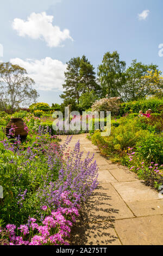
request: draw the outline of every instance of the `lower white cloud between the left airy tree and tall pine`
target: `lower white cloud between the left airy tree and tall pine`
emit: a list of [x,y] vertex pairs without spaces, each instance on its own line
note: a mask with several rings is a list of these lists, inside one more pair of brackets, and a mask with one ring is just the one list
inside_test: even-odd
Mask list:
[[20,58],[11,59],[12,64],[22,66],[27,70],[28,76],[35,81],[36,89],[58,91],[63,90],[62,84],[65,81],[64,71],[66,71],[66,64],[60,60],[46,57],[45,59],[35,60]]

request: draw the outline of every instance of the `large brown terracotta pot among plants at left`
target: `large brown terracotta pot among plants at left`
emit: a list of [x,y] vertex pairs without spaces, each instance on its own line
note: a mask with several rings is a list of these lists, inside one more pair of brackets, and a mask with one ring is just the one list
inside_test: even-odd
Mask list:
[[[10,136],[10,137],[18,137],[18,135],[20,135],[21,139],[26,139],[27,138],[27,131],[24,130],[24,123],[22,118],[11,118],[10,122],[8,123],[8,125],[5,127],[5,135]],[[11,128],[14,128],[14,131],[12,131],[12,133],[14,134],[13,136],[11,136],[9,133],[9,130]]]

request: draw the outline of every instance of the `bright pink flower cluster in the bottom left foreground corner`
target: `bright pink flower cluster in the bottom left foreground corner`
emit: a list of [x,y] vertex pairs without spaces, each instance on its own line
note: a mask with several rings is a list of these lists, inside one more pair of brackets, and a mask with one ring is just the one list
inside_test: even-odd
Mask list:
[[[62,198],[67,200],[65,194],[62,194]],[[42,210],[48,210],[47,206],[42,206]],[[18,228],[14,224],[6,225],[5,229],[0,228],[0,234],[7,234],[10,245],[68,245],[65,238],[70,236],[72,224],[78,215],[76,207],[60,208],[51,211],[42,225],[37,224],[35,218],[29,218],[27,224]],[[20,232],[19,236],[16,235],[16,229]]]

